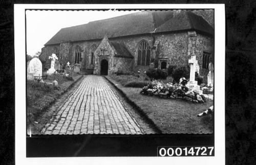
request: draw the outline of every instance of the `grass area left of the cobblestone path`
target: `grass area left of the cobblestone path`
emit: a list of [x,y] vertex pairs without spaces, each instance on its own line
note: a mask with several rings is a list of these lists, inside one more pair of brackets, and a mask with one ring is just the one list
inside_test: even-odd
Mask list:
[[27,81],[27,124],[33,124],[47,108],[78,79],[81,75],[74,74],[69,80],[61,75],[50,75],[46,82],[58,81],[58,87],[41,82]]

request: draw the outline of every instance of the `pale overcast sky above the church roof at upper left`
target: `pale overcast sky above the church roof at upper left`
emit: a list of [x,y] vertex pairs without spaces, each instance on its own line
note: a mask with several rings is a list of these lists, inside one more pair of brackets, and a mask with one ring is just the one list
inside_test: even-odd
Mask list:
[[138,11],[26,11],[27,53],[41,51],[61,28]]

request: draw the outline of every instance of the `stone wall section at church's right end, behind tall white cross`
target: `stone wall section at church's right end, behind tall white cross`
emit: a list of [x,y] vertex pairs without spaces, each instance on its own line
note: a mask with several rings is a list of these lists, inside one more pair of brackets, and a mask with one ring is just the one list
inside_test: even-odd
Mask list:
[[195,53],[200,66],[200,75],[204,77],[204,81],[207,81],[209,71],[202,68],[203,51],[214,53],[214,40],[200,33],[193,33],[196,36],[189,36],[188,32],[155,35],[155,42],[159,43],[159,68],[161,60],[165,61],[165,59],[167,59],[167,67],[188,65],[188,59]]

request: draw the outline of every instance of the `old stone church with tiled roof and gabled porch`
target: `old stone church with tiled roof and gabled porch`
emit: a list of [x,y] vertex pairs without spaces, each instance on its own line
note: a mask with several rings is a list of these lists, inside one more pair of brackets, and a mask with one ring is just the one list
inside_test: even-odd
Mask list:
[[58,56],[90,74],[106,75],[148,68],[188,65],[196,55],[207,78],[214,62],[214,10],[140,11],[61,29],[41,50],[43,68]]

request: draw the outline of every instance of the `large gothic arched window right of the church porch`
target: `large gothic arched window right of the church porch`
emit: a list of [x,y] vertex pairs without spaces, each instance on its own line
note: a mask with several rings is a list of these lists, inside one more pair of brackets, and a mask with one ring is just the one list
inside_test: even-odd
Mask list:
[[137,65],[150,65],[151,47],[147,41],[142,40],[138,46]]

